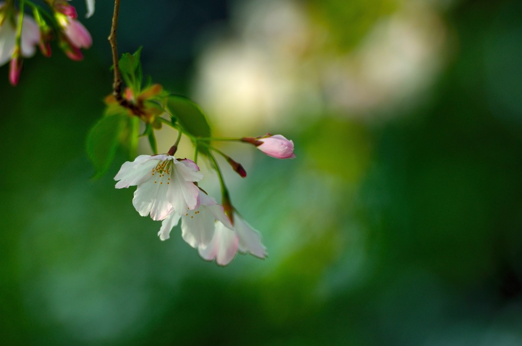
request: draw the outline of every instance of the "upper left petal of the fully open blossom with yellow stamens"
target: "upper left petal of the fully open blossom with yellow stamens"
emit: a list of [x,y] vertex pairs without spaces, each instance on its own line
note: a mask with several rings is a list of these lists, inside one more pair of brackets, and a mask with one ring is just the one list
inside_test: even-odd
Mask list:
[[114,180],[120,180],[116,183],[116,189],[128,188],[153,178],[152,169],[159,162],[159,159],[150,155],[140,155],[133,162],[127,161],[114,177]]

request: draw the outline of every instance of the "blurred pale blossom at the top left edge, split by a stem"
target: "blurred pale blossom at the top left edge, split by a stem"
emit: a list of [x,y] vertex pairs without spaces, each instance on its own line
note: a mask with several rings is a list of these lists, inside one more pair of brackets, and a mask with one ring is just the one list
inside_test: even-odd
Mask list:
[[[2,5],[0,5],[0,9]],[[18,21],[18,20],[16,20]],[[23,16],[21,53],[22,56],[30,57],[34,55],[35,45],[40,42],[40,29],[34,19],[29,15]],[[16,48],[16,27],[11,24],[8,18],[4,18],[0,25],[0,66],[11,60]]]

